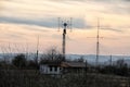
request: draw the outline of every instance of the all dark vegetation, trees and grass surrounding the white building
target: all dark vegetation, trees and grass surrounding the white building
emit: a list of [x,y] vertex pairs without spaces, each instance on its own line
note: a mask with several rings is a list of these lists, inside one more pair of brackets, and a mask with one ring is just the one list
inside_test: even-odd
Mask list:
[[[52,49],[43,54],[39,63],[64,61],[62,54]],[[70,61],[70,60],[66,60]],[[87,62],[83,57],[73,60]],[[39,72],[36,60],[27,60],[25,54],[17,54],[11,62],[0,62],[0,87],[127,87],[130,84],[130,69],[118,60],[114,65],[92,67],[87,72],[64,75],[43,75]]]

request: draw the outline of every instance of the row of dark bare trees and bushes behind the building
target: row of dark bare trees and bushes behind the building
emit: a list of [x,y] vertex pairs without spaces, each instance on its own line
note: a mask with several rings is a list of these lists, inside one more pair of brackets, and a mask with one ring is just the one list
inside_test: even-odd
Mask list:
[[[62,53],[58,52],[56,49],[50,49],[47,53],[40,55],[40,60],[36,60],[36,57],[34,59],[27,59],[27,55],[24,53],[20,53],[15,55],[11,62],[6,61],[0,61],[0,69],[11,69],[11,70],[39,70],[39,65],[42,63],[46,63],[48,61],[73,61],[73,62],[87,62],[84,61],[83,57],[80,57],[79,59],[70,60],[66,59],[64,60],[62,57]],[[38,62],[38,63],[37,63]],[[101,74],[113,74],[113,75],[120,75],[120,76],[130,76],[130,67],[127,63],[125,63],[123,60],[118,60],[115,64],[109,64],[105,66],[92,66],[89,63],[87,63],[88,67],[91,67],[92,70],[95,70],[94,72],[99,72]],[[87,72],[90,72],[90,70],[87,70]],[[93,73],[94,73],[93,72]]]

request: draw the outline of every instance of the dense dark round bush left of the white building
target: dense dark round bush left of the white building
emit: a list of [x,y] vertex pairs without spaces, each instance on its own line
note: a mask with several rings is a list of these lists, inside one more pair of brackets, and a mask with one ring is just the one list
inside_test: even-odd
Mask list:
[[25,54],[17,54],[14,57],[12,60],[12,64],[15,65],[18,69],[24,69],[26,67],[27,60],[25,58]]

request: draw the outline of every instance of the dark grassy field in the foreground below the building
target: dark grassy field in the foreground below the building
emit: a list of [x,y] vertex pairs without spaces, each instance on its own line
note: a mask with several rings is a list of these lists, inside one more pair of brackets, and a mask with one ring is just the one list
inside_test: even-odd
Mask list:
[[34,70],[1,70],[0,87],[127,87],[129,79],[115,75],[66,74],[42,75]]

